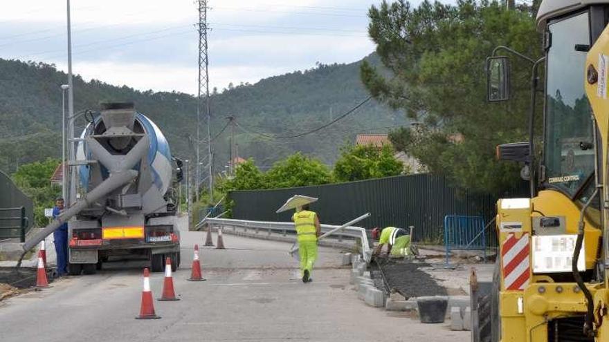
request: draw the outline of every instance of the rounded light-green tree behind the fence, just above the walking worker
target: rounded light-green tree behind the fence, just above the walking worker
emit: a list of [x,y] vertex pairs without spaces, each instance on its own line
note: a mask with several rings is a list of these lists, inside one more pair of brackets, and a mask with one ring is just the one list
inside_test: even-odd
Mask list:
[[275,162],[264,179],[266,189],[305,187],[331,182],[331,173],[316,158],[310,158],[297,152],[284,160]]

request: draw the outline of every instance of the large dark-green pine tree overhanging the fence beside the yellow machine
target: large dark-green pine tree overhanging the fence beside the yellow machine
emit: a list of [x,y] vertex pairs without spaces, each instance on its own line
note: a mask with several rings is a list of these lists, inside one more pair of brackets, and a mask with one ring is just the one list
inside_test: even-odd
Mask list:
[[364,62],[361,78],[376,99],[422,124],[416,134],[394,131],[395,146],[463,187],[496,191],[516,182],[518,167],[494,160],[494,149],[527,139],[531,66],[511,64],[505,104],[484,101],[484,66],[496,46],[540,56],[533,12],[487,0],[372,6],[368,31],[384,68]]

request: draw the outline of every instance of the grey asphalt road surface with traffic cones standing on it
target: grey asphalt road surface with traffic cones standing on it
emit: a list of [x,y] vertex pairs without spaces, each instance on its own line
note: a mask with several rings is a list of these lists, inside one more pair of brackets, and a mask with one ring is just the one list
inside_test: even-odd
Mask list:
[[[174,273],[181,301],[154,301],[162,319],[136,320],[142,269],[62,278],[51,289],[0,302],[0,341],[469,341],[469,332],[423,325],[368,307],[349,285],[340,254],[320,249],[313,283],[298,279],[288,243],[224,235],[226,250],[203,248],[204,282],[190,276],[192,247],[203,234],[182,234]],[[161,295],[163,274],[151,278]]]

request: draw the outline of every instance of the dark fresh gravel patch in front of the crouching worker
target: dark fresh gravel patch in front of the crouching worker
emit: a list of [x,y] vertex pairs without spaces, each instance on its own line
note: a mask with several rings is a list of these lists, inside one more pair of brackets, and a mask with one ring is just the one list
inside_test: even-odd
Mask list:
[[[395,289],[406,298],[421,296],[446,296],[446,288],[439,285],[430,274],[421,270],[428,263],[410,260],[376,258],[372,263],[372,278],[379,288]],[[382,271],[382,273],[381,273]],[[383,285],[383,277],[388,284]]]

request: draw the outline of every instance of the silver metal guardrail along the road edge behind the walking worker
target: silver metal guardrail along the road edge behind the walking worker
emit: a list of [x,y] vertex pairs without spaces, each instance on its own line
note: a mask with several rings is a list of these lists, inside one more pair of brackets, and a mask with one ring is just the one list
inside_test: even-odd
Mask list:
[[[296,227],[294,226],[294,222],[271,222],[271,221],[250,221],[250,220],[233,220],[230,218],[206,218],[201,221],[197,228],[201,227],[204,224],[210,225],[210,227],[220,226],[223,228],[228,227],[232,228],[233,231],[237,231],[237,229],[243,229],[243,231],[248,231],[248,229],[253,230],[256,234],[259,234],[260,231],[266,231],[267,235],[282,234],[282,236],[287,236],[288,234],[296,236]],[[336,229],[340,226],[338,225],[321,225],[322,234],[331,231],[332,229]],[[366,229],[362,227],[345,227],[342,231],[337,231],[332,234],[338,238],[338,241],[342,241],[343,239],[348,240],[361,240],[361,253],[366,261],[366,263],[370,263],[372,258],[372,251],[370,251],[370,244],[368,243],[368,237],[366,234]]]

